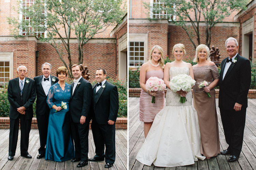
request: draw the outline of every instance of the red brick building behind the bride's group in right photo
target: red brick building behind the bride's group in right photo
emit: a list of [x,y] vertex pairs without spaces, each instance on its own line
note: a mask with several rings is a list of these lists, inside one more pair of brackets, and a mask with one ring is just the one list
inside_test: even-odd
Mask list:
[[[164,56],[172,56],[172,47],[177,43],[182,43],[186,47],[186,56],[194,58],[195,49],[190,42],[186,32],[179,26],[175,26],[168,19],[148,20],[148,10],[144,7],[143,2],[156,3],[159,0],[129,0],[129,67],[141,65],[147,61],[151,48],[154,45],[159,45],[163,48]],[[255,2],[255,1],[252,1]],[[251,2],[251,3],[252,3]],[[254,5],[255,6],[255,5]],[[254,7],[255,11],[255,7]],[[252,13],[255,15],[255,12]],[[212,28],[211,46],[219,48],[222,59],[227,57],[225,50],[225,41],[228,37],[237,38],[240,41],[240,54],[249,58],[242,52],[241,24],[236,15],[238,12],[233,12],[229,17],[226,17],[222,23],[217,23]],[[241,13],[241,12],[240,12]],[[240,15],[239,15],[240,16]],[[247,13],[241,14],[247,16]],[[246,19],[245,19],[246,20]],[[254,19],[254,22],[256,19]],[[187,24],[190,24],[189,22]],[[200,23],[201,43],[205,39],[205,24]],[[255,29],[254,29],[255,30]],[[194,36],[196,41],[196,35]],[[256,42],[256,39],[254,40]],[[255,49],[256,50],[256,49]],[[242,52],[242,53],[241,53]]]

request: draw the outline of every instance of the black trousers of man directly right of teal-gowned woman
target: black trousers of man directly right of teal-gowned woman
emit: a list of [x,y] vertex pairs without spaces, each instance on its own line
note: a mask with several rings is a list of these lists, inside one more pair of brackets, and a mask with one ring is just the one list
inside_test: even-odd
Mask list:
[[88,134],[89,134],[89,121],[84,124],[74,123],[71,121],[71,132],[75,144],[75,157],[81,158],[81,161],[88,161]]

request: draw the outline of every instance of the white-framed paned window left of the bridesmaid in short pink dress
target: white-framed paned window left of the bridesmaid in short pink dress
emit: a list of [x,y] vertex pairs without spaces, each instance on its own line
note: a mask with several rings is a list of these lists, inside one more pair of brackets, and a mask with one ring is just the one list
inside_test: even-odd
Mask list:
[[141,66],[144,63],[144,42],[129,42],[129,66]]

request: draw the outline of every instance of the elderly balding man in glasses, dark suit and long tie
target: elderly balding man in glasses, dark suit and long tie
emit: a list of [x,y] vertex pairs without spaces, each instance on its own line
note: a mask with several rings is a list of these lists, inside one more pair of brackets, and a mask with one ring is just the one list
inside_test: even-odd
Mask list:
[[13,160],[15,155],[19,121],[20,121],[20,155],[32,158],[28,153],[29,132],[33,117],[33,103],[35,101],[35,81],[27,78],[26,66],[17,68],[19,77],[12,79],[8,84],[8,100],[10,102],[10,135],[9,135],[9,156]]

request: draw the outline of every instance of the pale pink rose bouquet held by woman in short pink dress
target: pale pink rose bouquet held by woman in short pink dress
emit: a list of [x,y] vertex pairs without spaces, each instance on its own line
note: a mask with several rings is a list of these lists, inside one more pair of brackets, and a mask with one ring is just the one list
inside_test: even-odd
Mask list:
[[[145,85],[147,91],[163,91],[166,88],[165,82],[157,77],[150,77]],[[156,103],[155,96],[152,96],[151,103]]]

